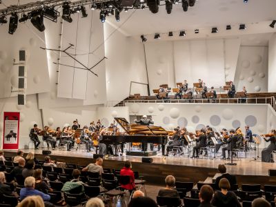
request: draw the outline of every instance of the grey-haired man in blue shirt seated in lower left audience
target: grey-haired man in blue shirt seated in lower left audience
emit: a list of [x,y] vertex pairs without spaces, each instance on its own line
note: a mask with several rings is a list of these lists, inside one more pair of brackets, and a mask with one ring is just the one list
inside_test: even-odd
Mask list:
[[35,186],[35,179],[34,177],[26,177],[24,181],[25,188],[20,190],[20,199],[23,200],[24,198],[30,195],[39,195],[42,197],[43,201],[50,201],[50,195],[42,193],[39,190],[34,189]]

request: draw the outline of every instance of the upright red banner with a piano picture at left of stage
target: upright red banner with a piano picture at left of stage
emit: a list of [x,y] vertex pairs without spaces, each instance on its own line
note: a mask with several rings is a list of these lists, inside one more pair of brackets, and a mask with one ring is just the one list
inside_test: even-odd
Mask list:
[[4,112],[3,149],[17,150],[19,147],[20,112]]

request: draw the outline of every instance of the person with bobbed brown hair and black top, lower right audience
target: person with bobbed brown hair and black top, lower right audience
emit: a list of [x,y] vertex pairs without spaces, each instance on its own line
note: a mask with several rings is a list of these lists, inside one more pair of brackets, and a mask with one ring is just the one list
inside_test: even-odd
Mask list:
[[212,200],[212,204],[217,207],[242,207],[237,199],[235,193],[228,191],[230,190],[230,183],[228,179],[221,178],[219,181],[219,188],[221,191],[217,190]]

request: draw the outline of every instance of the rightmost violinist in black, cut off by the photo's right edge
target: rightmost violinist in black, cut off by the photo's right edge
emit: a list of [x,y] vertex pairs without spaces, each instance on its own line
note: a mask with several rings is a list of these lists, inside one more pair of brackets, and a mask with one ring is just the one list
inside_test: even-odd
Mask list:
[[[272,152],[276,149],[276,130],[271,130],[270,134],[261,136],[264,137],[264,141],[270,141],[269,146],[262,150],[262,161],[274,162]],[[268,139],[266,137],[268,137]]]

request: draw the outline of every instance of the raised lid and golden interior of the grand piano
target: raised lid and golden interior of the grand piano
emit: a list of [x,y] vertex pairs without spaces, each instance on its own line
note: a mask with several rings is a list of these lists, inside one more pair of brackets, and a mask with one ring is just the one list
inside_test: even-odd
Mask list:
[[125,118],[115,117],[117,123],[124,128],[128,135],[168,135],[161,126],[144,126],[140,124],[129,124]]

